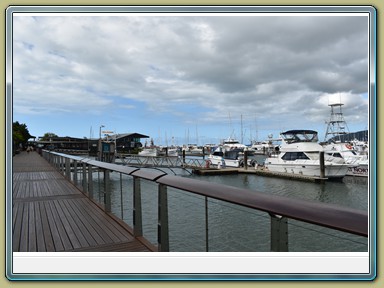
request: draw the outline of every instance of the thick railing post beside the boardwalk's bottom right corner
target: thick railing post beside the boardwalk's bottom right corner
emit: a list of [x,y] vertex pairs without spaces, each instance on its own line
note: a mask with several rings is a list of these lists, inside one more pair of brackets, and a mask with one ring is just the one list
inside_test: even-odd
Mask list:
[[159,184],[157,242],[160,252],[169,252],[167,186]]

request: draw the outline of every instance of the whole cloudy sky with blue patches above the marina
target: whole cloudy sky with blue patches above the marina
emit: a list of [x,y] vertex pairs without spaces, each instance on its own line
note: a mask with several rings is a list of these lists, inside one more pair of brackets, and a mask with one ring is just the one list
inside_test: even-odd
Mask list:
[[361,16],[14,16],[13,121],[155,144],[322,140],[340,99],[349,130],[368,128],[368,37]]

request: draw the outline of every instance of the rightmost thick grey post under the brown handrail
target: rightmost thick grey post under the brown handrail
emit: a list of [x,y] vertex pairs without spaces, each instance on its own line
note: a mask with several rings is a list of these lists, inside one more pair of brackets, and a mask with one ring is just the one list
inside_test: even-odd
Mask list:
[[288,220],[280,215],[271,217],[271,251],[288,252]]

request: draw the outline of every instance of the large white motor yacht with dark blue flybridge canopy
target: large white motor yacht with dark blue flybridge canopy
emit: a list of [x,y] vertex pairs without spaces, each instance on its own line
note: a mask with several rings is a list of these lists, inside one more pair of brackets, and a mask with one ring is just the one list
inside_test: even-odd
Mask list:
[[[265,167],[272,172],[321,177],[318,134],[313,130],[289,130],[280,134],[281,145],[277,153],[265,160]],[[342,158],[324,155],[324,177],[341,179],[348,170]]]

